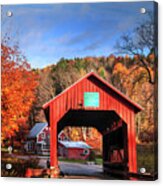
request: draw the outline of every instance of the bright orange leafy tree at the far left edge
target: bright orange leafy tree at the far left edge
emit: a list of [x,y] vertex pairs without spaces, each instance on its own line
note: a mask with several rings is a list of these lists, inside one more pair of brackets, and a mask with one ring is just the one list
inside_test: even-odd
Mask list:
[[1,116],[2,144],[27,127],[32,104],[36,98],[38,75],[18,47],[1,46]]

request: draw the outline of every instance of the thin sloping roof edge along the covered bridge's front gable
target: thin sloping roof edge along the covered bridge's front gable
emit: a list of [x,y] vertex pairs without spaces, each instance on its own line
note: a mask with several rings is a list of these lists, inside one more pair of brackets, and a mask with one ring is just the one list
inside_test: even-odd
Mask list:
[[90,72],[88,74],[86,74],[84,77],[82,77],[81,79],[79,79],[78,81],[76,81],[74,84],[72,84],[71,86],[69,86],[68,88],[66,88],[64,91],[62,91],[60,94],[58,94],[57,96],[55,96],[53,99],[51,99],[49,102],[45,103],[43,105],[43,109],[47,108],[53,101],[55,101],[57,98],[59,98],[62,94],[64,94],[65,92],[69,91],[71,88],[73,88],[76,84],[80,83],[83,79],[86,79],[90,76],[95,77],[97,80],[99,80],[102,84],[106,85],[110,90],[112,90],[115,94],[117,94],[119,97],[121,97],[123,100],[127,101],[130,105],[132,105],[136,111],[141,111],[143,110],[143,108],[135,103],[134,101],[132,101],[129,97],[127,97],[126,95],[124,95],[122,92],[120,92],[118,89],[116,89],[113,85],[111,85],[110,83],[108,83],[107,81],[105,81],[104,79],[102,79],[100,76],[98,76],[97,74],[95,74],[94,72]]

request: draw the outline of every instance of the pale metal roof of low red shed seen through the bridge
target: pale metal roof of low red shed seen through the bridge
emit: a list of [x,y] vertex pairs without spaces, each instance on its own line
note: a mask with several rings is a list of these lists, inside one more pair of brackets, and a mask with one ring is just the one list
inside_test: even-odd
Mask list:
[[64,145],[66,148],[82,148],[82,149],[90,149],[91,146],[89,146],[84,141],[59,141],[62,145]]

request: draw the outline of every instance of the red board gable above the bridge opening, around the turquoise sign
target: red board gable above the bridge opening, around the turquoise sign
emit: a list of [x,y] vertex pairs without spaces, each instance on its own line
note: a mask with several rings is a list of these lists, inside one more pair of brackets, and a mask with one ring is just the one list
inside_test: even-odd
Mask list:
[[[114,110],[126,123],[128,123],[127,121],[128,117],[130,117],[130,112],[137,112],[137,110],[141,108],[131,105],[131,102],[127,103],[126,100],[116,95],[113,90],[109,90],[108,88],[107,91],[107,87],[105,88],[106,90],[103,90],[102,85],[95,85],[91,79],[84,78],[80,83],[75,84],[73,87],[67,89],[67,91],[56,96],[54,100],[49,102],[49,104],[53,105],[55,108],[55,115],[53,116],[55,117],[55,120],[58,121],[69,109],[80,109],[80,104],[82,103],[82,105],[84,105],[84,92],[99,92],[100,106],[96,108],[84,108],[84,106],[82,106],[82,109]],[[108,94],[108,92],[110,92],[110,94]],[[44,108],[49,106],[49,104],[45,104]]]

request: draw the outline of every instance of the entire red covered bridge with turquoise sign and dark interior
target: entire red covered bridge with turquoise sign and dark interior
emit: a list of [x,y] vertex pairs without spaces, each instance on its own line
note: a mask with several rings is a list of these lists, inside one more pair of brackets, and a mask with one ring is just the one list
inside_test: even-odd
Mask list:
[[50,124],[50,168],[59,173],[57,134],[65,126],[95,127],[103,135],[105,172],[137,172],[135,114],[142,107],[94,72],[43,105]]

